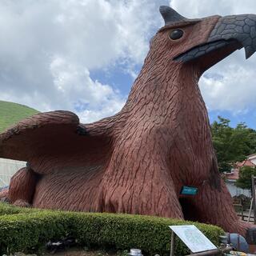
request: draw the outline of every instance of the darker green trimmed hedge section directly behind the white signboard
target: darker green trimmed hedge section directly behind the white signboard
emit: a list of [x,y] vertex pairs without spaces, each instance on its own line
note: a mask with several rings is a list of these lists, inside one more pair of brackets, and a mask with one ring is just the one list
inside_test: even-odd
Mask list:
[[[75,215],[79,242],[82,245],[114,246],[118,250],[140,248],[145,254],[170,254],[170,228],[173,225],[195,225],[218,246],[224,231],[198,222],[130,214]],[[188,254],[183,242],[175,241],[176,255]]]

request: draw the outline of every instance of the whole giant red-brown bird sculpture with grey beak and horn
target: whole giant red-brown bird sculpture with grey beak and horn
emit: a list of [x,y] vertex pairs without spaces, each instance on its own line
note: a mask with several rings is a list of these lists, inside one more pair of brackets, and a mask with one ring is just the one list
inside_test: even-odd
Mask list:
[[[218,173],[198,79],[242,46],[247,58],[254,53],[256,15],[160,12],[166,24],[118,114],[86,125],[67,111],[36,114],[0,135],[0,157],[29,163],[11,179],[10,202],[186,218],[246,234]],[[182,196],[182,186],[198,194]]]

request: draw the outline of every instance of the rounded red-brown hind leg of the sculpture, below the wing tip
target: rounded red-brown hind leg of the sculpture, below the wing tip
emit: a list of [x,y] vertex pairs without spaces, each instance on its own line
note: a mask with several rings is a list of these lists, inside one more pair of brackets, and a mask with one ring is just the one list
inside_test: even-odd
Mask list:
[[36,181],[36,174],[29,167],[18,170],[10,180],[10,202],[16,206],[30,206]]

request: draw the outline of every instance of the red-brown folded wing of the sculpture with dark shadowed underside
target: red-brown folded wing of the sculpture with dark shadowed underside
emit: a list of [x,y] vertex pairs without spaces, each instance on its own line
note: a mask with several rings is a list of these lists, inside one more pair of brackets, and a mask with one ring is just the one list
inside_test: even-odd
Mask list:
[[40,155],[76,154],[100,146],[97,134],[86,134],[76,114],[53,111],[36,114],[0,134],[0,158],[30,161]]

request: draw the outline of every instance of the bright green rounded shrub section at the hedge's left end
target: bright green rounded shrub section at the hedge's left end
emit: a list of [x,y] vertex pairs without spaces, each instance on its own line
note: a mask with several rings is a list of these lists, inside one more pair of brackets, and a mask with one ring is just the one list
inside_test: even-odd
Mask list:
[[58,211],[2,215],[1,253],[38,251],[52,238],[66,238],[72,233],[72,220],[70,214]]

